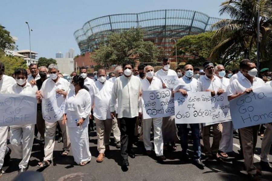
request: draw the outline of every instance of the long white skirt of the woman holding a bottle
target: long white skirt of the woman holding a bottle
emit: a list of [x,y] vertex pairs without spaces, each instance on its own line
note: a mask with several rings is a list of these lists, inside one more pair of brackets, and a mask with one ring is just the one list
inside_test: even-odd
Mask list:
[[92,155],[89,149],[88,126],[86,125],[81,128],[67,126],[67,130],[70,135],[71,148],[75,162],[80,164],[82,162],[90,161]]

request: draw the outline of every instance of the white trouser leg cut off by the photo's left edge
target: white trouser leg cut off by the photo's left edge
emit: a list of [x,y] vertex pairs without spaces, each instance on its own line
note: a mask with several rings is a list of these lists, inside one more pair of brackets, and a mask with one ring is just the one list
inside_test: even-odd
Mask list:
[[4,158],[7,148],[8,139],[8,126],[0,127],[0,169],[2,169],[4,164]]

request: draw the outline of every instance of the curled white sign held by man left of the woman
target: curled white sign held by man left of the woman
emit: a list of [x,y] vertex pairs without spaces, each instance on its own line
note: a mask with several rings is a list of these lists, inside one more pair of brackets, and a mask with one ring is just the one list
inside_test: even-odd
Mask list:
[[62,119],[65,98],[61,94],[53,94],[51,97],[42,99],[42,114],[47,122],[56,122]]

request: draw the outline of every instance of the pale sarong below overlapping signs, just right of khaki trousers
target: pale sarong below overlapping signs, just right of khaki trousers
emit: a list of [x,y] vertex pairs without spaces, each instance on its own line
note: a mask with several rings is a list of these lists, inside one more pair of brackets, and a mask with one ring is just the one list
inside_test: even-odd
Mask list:
[[219,150],[225,153],[233,151],[233,124],[232,121],[222,122],[222,137]]

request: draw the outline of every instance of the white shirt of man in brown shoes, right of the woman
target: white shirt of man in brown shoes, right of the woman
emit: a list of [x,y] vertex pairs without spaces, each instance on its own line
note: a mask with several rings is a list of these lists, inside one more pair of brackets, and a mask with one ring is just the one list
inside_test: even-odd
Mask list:
[[92,105],[94,103],[93,116],[100,120],[111,119],[110,100],[112,98],[113,83],[105,81],[102,84],[96,81],[90,87]]

